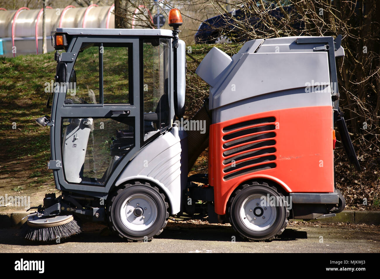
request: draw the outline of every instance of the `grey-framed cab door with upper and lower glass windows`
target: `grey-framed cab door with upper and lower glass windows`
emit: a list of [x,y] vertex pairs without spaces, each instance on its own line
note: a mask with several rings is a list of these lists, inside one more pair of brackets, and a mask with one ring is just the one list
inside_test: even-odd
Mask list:
[[139,39],[79,36],[59,63],[67,74],[52,106],[57,188],[108,192],[140,149]]

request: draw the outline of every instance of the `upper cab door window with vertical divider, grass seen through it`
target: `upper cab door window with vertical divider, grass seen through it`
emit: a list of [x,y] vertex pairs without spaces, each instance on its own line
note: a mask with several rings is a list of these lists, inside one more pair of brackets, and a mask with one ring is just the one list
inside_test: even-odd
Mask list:
[[84,43],[75,61],[65,104],[131,104],[131,43]]

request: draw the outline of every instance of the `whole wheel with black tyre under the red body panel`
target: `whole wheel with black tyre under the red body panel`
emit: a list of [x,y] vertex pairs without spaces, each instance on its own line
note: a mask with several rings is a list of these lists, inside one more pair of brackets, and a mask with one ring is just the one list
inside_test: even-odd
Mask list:
[[[268,200],[268,195],[270,199]],[[270,241],[280,235],[288,224],[289,210],[285,203],[271,203],[284,195],[267,183],[251,182],[239,186],[231,195],[228,216],[234,230],[251,241]]]

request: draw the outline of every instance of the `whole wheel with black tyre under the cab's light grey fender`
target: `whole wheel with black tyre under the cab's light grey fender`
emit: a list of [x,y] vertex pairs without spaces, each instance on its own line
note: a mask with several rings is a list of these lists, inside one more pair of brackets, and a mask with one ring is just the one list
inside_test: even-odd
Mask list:
[[150,241],[168,223],[165,195],[149,183],[134,182],[117,189],[107,202],[111,231],[128,241]]

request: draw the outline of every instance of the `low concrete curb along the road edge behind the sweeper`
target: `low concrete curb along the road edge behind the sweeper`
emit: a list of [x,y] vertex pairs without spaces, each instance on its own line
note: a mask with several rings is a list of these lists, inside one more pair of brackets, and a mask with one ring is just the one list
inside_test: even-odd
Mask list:
[[[0,229],[5,229],[9,227],[21,227],[21,225],[24,224],[27,220],[25,218],[24,220],[21,221],[21,219],[30,213],[31,212],[26,212],[26,211],[0,213]],[[303,220],[294,219],[294,221],[303,221]],[[351,224],[380,225],[380,210],[379,211],[344,210],[341,213],[338,213],[335,217],[310,220],[308,222],[321,222],[323,224],[350,222]]]

